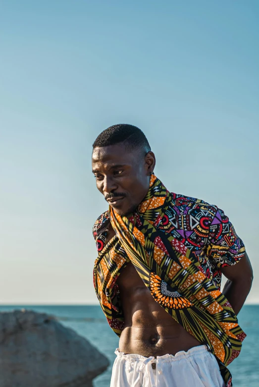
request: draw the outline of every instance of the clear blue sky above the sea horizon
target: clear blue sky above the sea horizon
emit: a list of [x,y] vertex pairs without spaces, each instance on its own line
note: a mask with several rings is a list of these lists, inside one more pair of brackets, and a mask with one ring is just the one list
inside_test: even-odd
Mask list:
[[0,1],[0,303],[96,303],[92,143],[139,126],[171,191],[222,208],[259,302],[259,2]]

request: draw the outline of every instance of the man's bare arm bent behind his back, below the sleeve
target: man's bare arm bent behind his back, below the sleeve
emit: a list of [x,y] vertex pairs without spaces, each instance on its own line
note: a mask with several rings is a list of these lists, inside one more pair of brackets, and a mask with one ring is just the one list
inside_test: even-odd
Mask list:
[[222,293],[237,315],[244,305],[253,281],[253,269],[247,253],[235,265],[221,267],[220,270],[228,279]]

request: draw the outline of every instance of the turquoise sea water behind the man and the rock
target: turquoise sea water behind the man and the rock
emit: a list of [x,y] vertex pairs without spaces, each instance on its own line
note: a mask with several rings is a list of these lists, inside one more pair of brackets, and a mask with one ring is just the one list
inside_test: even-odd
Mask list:
[[[108,387],[118,337],[109,328],[99,306],[0,306],[0,311],[33,309],[55,315],[62,324],[74,329],[99,348],[110,360],[107,371],[95,379],[95,387]],[[240,356],[230,364],[233,387],[259,387],[259,305],[246,305],[239,314],[239,324],[247,333]],[[183,386],[187,387],[187,386]]]

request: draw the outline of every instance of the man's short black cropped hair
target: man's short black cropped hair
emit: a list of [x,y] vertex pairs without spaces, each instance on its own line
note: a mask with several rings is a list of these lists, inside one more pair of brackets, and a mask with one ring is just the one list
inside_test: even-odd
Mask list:
[[118,143],[124,143],[129,150],[139,148],[145,151],[145,153],[151,151],[143,131],[137,128],[137,126],[125,123],[113,125],[105,129],[95,140],[93,148],[106,147]]

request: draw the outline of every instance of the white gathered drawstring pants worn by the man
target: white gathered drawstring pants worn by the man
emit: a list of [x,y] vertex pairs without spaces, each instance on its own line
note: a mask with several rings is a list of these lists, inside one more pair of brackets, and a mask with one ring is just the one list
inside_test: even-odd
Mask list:
[[117,355],[110,387],[225,387],[216,358],[206,345],[173,355]]

